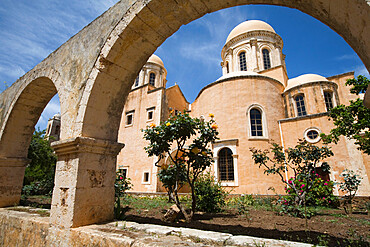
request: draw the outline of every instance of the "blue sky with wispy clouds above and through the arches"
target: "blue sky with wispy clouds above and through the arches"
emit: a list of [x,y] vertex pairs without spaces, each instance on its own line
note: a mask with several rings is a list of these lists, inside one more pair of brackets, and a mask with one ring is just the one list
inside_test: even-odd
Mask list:
[[[41,62],[117,0],[2,0],[0,5],[0,91]],[[329,27],[300,11],[276,6],[240,6],[189,23],[155,52],[168,71],[167,86],[180,85],[189,102],[221,76],[221,49],[229,32],[245,20],[269,23],[284,41],[290,78],[368,72],[352,48]],[[6,82],[6,83],[5,83]],[[59,112],[54,97],[37,127]]]

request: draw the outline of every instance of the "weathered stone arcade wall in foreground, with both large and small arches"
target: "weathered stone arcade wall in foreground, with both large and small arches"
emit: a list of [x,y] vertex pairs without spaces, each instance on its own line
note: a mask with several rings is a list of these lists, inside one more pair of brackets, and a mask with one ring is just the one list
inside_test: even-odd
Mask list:
[[[99,164],[97,171],[106,172],[105,181],[113,180],[112,167],[118,147],[122,147],[117,143],[122,110],[140,68],[182,25],[207,13],[241,4],[273,4],[307,13],[340,34],[366,68],[370,68],[368,0],[121,0],[1,93],[0,174],[14,178],[0,180],[1,205],[18,203],[23,175],[18,175],[22,170],[14,167],[27,164],[23,161],[34,126],[47,102],[58,93],[62,125],[61,142],[56,145],[65,147],[68,143],[75,151],[73,155],[67,154],[64,148],[60,154],[57,151],[63,156],[59,166],[68,168],[73,163],[73,169],[57,170],[57,180],[65,183],[54,190],[58,194],[53,195],[57,210],[52,210],[52,215],[55,214],[52,217],[63,220],[53,224],[70,227],[111,219],[103,210],[105,205],[113,205],[111,192],[107,198],[94,201],[94,208],[100,211],[86,210],[89,197],[81,197],[79,191],[93,184],[86,182],[81,174],[86,169],[94,174],[95,165]],[[366,99],[369,94],[368,91]],[[78,138],[88,138],[91,142],[81,148]],[[106,149],[101,148],[104,145]],[[90,163],[87,156],[97,149],[100,151],[91,157],[94,162]],[[23,161],[15,165],[13,161],[18,160]],[[94,187],[94,194],[105,193],[104,186]],[[6,188],[13,188],[11,195]],[[66,188],[73,200],[68,208],[70,213],[63,214]],[[75,206],[76,203],[80,206]]]

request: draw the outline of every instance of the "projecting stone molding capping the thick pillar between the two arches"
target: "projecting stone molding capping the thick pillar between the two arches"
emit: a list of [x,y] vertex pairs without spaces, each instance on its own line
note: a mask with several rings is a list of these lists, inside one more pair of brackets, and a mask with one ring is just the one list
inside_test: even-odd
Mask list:
[[94,153],[115,156],[121,151],[125,144],[80,136],[53,142],[51,146],[58,156],[76,153]]

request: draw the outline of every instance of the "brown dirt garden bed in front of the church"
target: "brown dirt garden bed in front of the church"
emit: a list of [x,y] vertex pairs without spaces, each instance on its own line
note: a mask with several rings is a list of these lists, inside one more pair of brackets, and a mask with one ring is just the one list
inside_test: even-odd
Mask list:
[[[50,199],[28,198],[24,205],[50,205]],[[370,216],[364,211],[355,211],[348,216],[343,209],[325,209],[308,220],[289,215],[278,215],[262,208],[249,209],[239,215],[236,209],[225,209],[222,213],[197,213],[194,221],[186,223],[179,219],[174,223],[162,221],[166,209],[163,206],[137,209],[127,206],[125,220],[176,227],[248,235],[262,238],[284,239],[323,246],[370,246]]]

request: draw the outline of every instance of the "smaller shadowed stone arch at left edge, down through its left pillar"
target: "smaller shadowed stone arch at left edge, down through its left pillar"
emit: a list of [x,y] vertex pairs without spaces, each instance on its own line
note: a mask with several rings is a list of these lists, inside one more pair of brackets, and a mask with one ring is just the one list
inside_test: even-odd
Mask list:
[[[4,92],[12,100],[8,101],[7,112],[2,112],[0,206],[19,202],[32,134],[44,108],[57,93],[53,80],[59,80],[59,73],[54,70],[35,71],[23,79],[27,82],[18,84],[18,91]],[[16,94],[12,95],[11,92]]]

